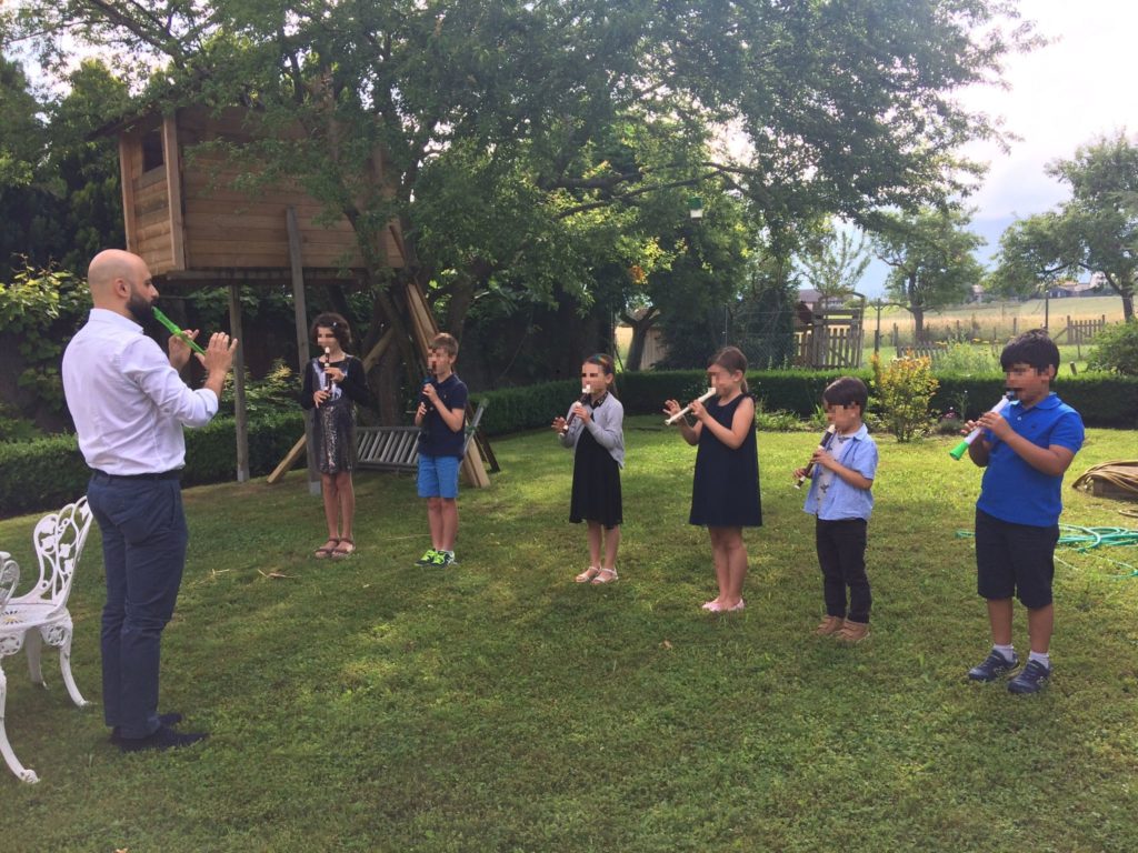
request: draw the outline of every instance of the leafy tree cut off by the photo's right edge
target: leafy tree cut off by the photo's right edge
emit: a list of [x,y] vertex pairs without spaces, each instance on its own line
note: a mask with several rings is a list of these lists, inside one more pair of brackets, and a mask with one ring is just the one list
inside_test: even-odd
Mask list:
[[1100,272],[1133,320],[1138,284],[1138,147],[1123,133],[1047,168],[1071,187],[1057,210],[1013,223],[1000,238],[1001,287],[1024,290]]

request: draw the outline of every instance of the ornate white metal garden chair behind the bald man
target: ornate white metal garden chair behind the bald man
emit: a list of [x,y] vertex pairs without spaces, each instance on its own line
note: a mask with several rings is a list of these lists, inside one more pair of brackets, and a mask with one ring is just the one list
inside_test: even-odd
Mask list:
[[[19,566],[8,552],[0,550],[0,664],[5,657],[26,647],[32,681],[42,685],[40,651],[44,643],[57,647],[67,693],[80,707],[88,703],[71,673],[72,619],[67,611],[67,596],[90,529],[91,510],[85,497],[40,519],[32,533],[40,577],[24,595],[15,595]],[[34,770],[19,763],[8,743],[5,729],[7,696],[8,687],[0,666],[0,754],[19,779],[39,781]]]

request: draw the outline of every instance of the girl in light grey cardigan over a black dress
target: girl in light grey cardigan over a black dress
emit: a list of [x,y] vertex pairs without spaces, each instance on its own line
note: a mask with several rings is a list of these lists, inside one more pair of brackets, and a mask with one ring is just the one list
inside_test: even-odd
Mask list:
[[[588,524],[588,568],[578,583],[617,579],[617,548],[624,521],[620,469],[625,464],[625,409],[612,396],[612,359],[594,355],[580,367],[582,398],[567,417],[553,419],[563,447],[572,448],[572,497],[569,521]],[[601,558],[601,550],[604,558]]]

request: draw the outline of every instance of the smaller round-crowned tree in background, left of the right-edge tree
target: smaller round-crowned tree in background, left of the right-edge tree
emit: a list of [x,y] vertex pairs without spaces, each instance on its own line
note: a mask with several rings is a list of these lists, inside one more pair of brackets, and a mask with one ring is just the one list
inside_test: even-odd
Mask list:
[[888,214],[879,221],[877,257],[892,267],[885,291],[913,314],[917,340],[924,336],[925,312],[963,303],[983,276],[972,252],[984,239],[967,230],[970,222],[968,213],[951,208]]

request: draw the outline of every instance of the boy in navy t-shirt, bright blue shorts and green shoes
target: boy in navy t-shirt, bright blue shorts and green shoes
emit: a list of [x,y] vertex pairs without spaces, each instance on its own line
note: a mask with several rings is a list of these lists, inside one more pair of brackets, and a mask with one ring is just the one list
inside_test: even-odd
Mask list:
[[428,348],[431,379],[423,384],[415,411],[419,433],[419,497],[427,498],[431,547],[419,565],[446,566],[454,562],[459,535],[459,466],[465,440],[468,391],[454,374],[459,341],[443,332]]

